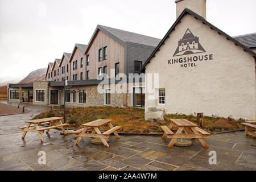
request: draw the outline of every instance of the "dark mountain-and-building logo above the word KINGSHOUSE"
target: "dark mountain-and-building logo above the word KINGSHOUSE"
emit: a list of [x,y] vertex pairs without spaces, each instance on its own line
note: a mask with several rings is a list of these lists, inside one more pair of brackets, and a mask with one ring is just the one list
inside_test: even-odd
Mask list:
[[174,56],[191,55],[201,52],[205,52],[205,49],[199,43],[199,37],[194,36],[188,28],[183,38],[179,40]]

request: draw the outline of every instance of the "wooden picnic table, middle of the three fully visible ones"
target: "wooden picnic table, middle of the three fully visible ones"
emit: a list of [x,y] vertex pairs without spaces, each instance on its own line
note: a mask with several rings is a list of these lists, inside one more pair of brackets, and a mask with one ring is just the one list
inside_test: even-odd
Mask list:
[[[108,142],[106,142],[106,138],[109,138],[109,135],[114,133],[115,137],[119,139],[119,135],[117,130],[121,129],[121,126],[113,126],[111,123],[111,119],[97,119],[96,121],[92,121],[89,123],[85,123],[82,125],[82,129],[76,130],[73,132],[75,137],[78,137],[76,140],[75,145],[78,145],[82,137],[90,137],[90,138],[100,138],[101,142],[104,144],[105,147],[109,147]],[[101,133],[100,127],[104,127],[104,125],[108,124],[110,129]],[[92,133],[86,133],[88,129],[93,129]]]

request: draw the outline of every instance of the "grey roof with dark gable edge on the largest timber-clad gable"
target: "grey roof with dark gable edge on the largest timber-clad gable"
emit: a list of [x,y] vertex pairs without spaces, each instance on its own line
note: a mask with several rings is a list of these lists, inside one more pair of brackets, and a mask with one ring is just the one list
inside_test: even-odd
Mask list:
[[105,34],[109,35],[111,38],[113,38],[115,41],[122,44],[123,46],[125,46],[126,42],[131,42],[131,43],[137,43],[137,44],[143,44],[143,45],[147,45],[147,46],[156,47],[161,40],[161,39],[157,39],[157,38],[152,38],[151,36],[136,34],[134,32],[119,30],[117,28],[106,27],[106,26],[102,26],[102,25],[98,24],[98,26],[96,27],[96,30],[93,33],[92,38],[90,39],[90,41],[88,43],[88,48],[86,49],[86,52],[89,50],[90,46],[92,45],[92,42],[93,42],[94,38],[96,37],[99,30],[101,30]]

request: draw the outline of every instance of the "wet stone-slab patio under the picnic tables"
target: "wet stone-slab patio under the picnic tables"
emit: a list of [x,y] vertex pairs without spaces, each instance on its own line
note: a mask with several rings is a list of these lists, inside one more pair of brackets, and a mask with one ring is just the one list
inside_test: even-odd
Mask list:
[[[245,132],[212,135],[206,140],[208,149],[199,140],[189,147],[167,148],[170,139],[152,136],[110,136],[109,148],[92,144],[83,138],[64,137],[59,130],[43,134],[41,143],[35,133],[21,139],[25,120],[31,119],[46,106],[28,104],[30,113],[0,117],[0,170],[255,170],[256,139]],[[39,165],[37,155],[45,151],[46,165]],[[208,162],[209,151],[217,152],[217,164]]]

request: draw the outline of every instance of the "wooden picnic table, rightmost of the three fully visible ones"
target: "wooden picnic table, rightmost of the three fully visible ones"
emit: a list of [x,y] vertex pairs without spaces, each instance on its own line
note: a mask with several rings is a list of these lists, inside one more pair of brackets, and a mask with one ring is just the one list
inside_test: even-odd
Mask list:
[[[163,139],[172,138],[171,142],[168,144],[168,148],[171,148],[176,142],[177,138],[192,138],[199,139],[204,148],[208,148],[207,143],[205,143],[205,138],[210,137],[210,133],[197,127],[195,123],[188,121],[187,119],[170,119],[171,124],[167,126],[160,126],[164,131]],[[178,127],[176,133],[171,129],[176,125]],[[182,133],[183,132],[183,133]]]

